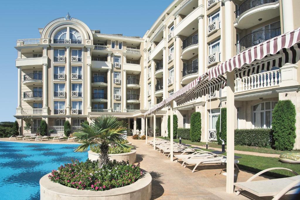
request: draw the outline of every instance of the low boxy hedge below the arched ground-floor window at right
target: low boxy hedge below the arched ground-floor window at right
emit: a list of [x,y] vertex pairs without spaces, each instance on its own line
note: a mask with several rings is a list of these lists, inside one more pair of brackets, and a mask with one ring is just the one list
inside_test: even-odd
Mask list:
[[234,145],[271,148],[271,129],[235,129]]

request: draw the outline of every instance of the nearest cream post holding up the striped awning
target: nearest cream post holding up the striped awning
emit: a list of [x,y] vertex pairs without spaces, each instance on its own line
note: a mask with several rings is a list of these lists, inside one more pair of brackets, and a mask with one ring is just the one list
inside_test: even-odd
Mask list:
[[234,71],[227,72],[226,105],[227,105],[227,163],[226,163],[226,192],[233,193],[234,182]]

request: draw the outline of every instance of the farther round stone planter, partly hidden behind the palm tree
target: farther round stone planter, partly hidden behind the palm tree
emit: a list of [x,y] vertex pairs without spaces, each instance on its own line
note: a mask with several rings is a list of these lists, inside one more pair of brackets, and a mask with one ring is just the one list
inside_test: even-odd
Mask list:
[[[110,160],[116,160],[116,161],[129,161],[130,164],[135,163],[137,160],[137,150],[136,149],[131,149],[131,152],[129,153],[122,153],[122,154],[108,154]],[[99,154],[93,152],[93,151],[88,151],[88,159],[89,160],[98,160]]]

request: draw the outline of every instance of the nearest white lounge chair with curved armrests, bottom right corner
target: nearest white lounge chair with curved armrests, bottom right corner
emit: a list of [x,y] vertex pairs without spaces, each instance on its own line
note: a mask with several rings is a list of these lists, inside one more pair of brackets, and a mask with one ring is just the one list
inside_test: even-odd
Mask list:
[[[252,181],[254,178],[258,177],[259,175],[268,172],[274,169],[284,169],[292,172],[295,174],[293,177],[287,178],[276,178],[270,180],[262,180],[262,181]],[[236,195],[239,195],[242,190],[246,190],[256,196],[274,196],[272,200],[280,199],[285,194],[297,194],[300,190],[300,175],[287,168],[281,167],[274,167],[262,170],[257,174],[253,175],[249,178],[246,182],[238,182],[234,183],[236,187],[238,187],[238,191]]]

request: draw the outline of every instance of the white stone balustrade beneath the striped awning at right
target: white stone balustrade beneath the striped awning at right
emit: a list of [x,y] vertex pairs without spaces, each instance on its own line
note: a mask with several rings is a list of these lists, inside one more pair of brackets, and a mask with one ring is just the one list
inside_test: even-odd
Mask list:
[[266,71],[250,76],[244,76],[243,78],[236,78],[234,80],[234,91],[248,91],[259,88],[267,88],[276,86],[281,82],[280,69]]

